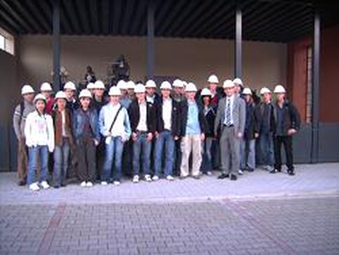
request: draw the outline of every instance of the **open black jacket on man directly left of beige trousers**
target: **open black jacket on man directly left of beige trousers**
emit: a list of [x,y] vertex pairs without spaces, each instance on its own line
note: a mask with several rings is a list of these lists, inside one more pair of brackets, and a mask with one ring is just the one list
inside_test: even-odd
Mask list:
[[[172,100],[172,123],[171,131],[173,136],[180,136],[180,102]],[[162,98],[157,105],[157,132],[164,131],[164,121],[162,119]]]

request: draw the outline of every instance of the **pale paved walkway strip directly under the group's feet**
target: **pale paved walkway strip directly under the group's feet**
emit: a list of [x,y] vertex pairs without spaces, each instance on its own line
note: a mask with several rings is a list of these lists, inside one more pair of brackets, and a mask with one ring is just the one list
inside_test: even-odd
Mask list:
[[269,174],[263,170],[245,172],[237,182],[212,177],[201,179],[175,179],[167,182],[132,184],[124,179],[120,186],[82,188],[70,184],[62,189],[32,192],[16,184],[15,173],[0,174],[0,204],[22,203],[147,203],[147,202],[190,202],[222,199],[288,198],[295,196],[338,196],[339,163],[297,165],[296,175],[285,172]]

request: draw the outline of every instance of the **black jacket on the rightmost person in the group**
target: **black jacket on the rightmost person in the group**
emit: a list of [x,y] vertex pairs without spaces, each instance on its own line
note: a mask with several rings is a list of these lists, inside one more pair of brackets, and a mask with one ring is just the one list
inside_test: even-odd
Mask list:
[[[277,108],[278,104],[273,104],[273,134],[277,131]],[[291,102],[283,103],[283,136],[287,136],[288,129],[300,129],[300,115]]]

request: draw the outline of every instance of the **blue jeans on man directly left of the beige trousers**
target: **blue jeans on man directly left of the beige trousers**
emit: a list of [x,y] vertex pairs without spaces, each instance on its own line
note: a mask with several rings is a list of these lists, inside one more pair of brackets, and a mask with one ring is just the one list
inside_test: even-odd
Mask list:
[[165,170],[164,174],[173,174],[174,163],[174,138],[171,131],[165,130],[159,134],[157,141],[155,142],[155,162],[154,169],[155,175],[159,176],[162,172],[162,154],[165,146]]

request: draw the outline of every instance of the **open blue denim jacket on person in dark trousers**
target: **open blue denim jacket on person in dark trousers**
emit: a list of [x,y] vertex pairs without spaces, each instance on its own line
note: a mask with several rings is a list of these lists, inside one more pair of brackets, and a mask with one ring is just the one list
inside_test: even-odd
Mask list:
[[[88,114],[90,117],[90,128],[93,131],[95,140],[100,141],[100,132],[99,125],[97,121],[97,111],[95,109],[88,109]],[[83,136],[83,129],[85,123],[85,112],[83,109],[76,109],[73,116],[73,134],[78,141],[81,136]]]

